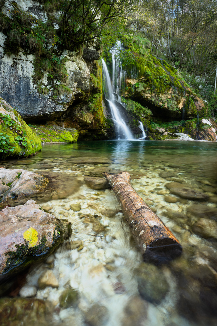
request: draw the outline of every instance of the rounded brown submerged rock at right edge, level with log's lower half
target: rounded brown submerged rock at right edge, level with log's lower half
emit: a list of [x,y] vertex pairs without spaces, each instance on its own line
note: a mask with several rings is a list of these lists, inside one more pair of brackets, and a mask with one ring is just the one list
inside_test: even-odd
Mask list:
[[214,220],[200,218],[192,227],[193,231],[205,239],[217,239],[217,223]]

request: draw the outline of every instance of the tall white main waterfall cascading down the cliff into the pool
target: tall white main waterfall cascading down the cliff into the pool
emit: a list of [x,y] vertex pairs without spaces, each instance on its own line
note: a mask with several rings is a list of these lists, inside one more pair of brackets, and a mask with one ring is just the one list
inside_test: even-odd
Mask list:
[[[108,68],[106,66],[105,61],[102,59],[103,75],[105,77],[104,78],[105,79],[104,95],[109,103],[109,107],[111,110],[111,117],[115,124],[115,129],[118,134],[118,139],[132,140],[132,139],[134,139],[133,135],[130,132],[130,130],[128,129],[124,120],[121,118],[121,114],[119,112],[118,106],[115,103],[116,101],[115,101],[114,93],[116,93],[118,95],[118,102],[121,103],[121,88],[120,88],[120,92],[117,93],[118,88],[116,88],[115,85],[119,85],[119,83],[118,83],[118,81],[117,81],[117,83],[115,83],[115,79],[113,77],[114,75],[116,75],[116,72],[117,72],[115,70],[115,68],[117,68],[116,67],[117,62],[118,62],[118,60],[113,62],[113,57],[112,57],[112,81],[113,81],[113,83],[111,86],[111,80],[109,77]],[[119,77],[117,76],[117,78],[119,78]]]

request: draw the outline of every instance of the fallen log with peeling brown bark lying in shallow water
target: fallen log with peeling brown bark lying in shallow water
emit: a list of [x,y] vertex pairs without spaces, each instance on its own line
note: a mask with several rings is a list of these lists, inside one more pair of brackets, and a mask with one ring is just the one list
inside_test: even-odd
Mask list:
[[136,193],[128,172],[103,173],[115,192],[144,260],[164,261],[179,256],[182,246],[160,218]]

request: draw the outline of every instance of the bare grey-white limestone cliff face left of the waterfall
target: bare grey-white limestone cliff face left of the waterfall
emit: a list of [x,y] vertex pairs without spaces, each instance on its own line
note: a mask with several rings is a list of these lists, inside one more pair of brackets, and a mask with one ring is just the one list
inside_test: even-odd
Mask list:
[[[1,38],[2,40],[5,39],[3,34]],[[71,93],[56,96],[54,99],[52,89],[48,94],[41,96],[33,83],[35,56],[26,54],[22,49],[17,55],[4,55],[4,41],[0,45],[1,96],[12,106],[16,106],[23,118],[49,119],[58,117],[67,110],[76,96],[81,95],[81,90],[83,92],[90,90],[90,72],[86,62],[78,53],[68,51],[63,53],[67,59],[65,67],[69,76],[68,87],[71,89]],[[44,74],[42,85],[50,87],[48,73]]]

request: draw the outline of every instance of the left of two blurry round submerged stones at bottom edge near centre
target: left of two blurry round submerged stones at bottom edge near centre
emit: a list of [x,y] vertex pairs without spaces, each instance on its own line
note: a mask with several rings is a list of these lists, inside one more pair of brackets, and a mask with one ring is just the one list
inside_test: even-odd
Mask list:
[[102,326],[106,324],[109,318],[108,309],[99,304],[94,304],[85,313],[85,321],[90,326]]

